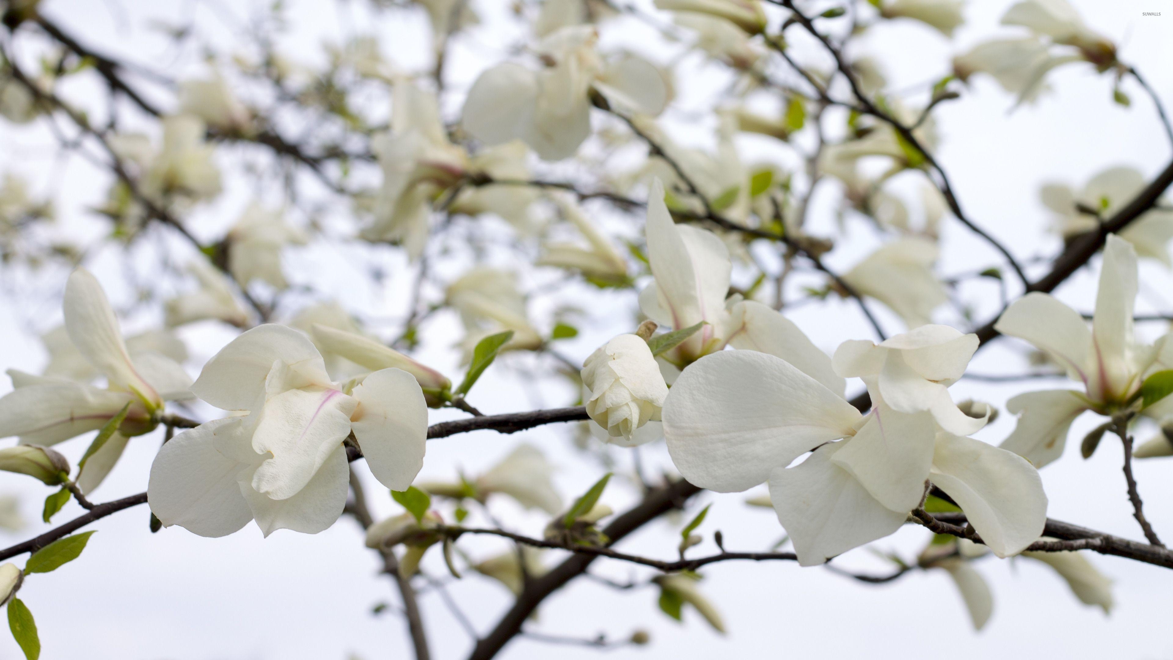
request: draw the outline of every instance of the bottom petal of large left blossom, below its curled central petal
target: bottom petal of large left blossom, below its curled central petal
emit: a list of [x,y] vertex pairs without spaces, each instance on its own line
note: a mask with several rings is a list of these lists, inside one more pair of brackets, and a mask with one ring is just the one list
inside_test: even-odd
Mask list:
[[271,499],[258,493],[246,478],[238,487],[266,537],[277,530],[317,534],[333,525],[346,506],[350,491],[346,449],[334,447],[310,483],[290,498]]

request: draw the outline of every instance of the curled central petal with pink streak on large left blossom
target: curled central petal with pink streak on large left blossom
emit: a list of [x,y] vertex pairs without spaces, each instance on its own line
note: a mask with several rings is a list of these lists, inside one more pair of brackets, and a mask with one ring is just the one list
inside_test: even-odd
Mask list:
[[257,467],[252,489],[272,499],[287,499],[304,489],[351,435],[357,405],[353,397],[321,389],[290,390],[265,402],[252,449],[272,458]]

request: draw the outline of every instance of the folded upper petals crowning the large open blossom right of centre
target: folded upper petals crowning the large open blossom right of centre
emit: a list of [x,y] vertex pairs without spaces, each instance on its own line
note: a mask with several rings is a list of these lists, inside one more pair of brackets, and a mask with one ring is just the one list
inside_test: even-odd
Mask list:
[[[931,412],[942,429],[969,436],[986,419],[962,412],[949,396],[949,385],[965,373],[977,345],[977,335],[963,335],[948,325],[922,325],[880,344],[843,342],[833,362],[836,373],[863,378],[893,410]],[[989,416],[989,406],[985,410]]]

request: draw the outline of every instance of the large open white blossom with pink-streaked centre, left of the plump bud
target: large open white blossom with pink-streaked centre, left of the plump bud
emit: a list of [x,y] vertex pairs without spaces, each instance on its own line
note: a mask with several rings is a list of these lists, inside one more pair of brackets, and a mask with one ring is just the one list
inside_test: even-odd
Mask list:
[[317,533],[341,516],[352,432],[371,472],[402,491],[423,464],[427,406],[411,373],[382,369],[351,389],[333,383],[304,335],[258,325],[221,349],[191,390],[237,416],[179,433],[151,465],[148,503],[164,525],[203,537],[256,519]]

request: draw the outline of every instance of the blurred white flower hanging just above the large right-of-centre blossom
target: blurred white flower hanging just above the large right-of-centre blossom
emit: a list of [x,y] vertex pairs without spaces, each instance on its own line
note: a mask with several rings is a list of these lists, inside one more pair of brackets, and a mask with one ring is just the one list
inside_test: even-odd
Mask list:
[[933,275],[941,250],[920,236],[884,243],[843,274],[855,292],[891,308],[909,328],[933,321],[933,310],[949,301],[944,285]]

